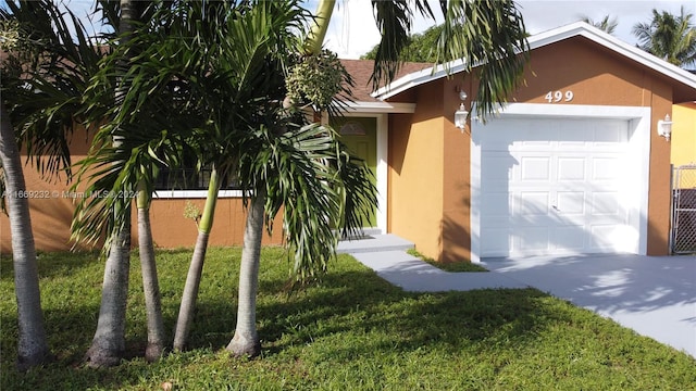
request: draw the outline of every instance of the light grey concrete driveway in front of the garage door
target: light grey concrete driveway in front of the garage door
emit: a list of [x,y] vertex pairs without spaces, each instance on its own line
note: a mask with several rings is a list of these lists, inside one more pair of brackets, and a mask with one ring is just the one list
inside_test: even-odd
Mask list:
[[696,256],[484,258],[482,264],[696,357]]

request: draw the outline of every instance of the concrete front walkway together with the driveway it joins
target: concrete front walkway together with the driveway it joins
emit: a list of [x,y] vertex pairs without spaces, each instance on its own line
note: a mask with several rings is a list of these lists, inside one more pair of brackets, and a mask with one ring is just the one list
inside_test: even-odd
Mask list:
[[407,291],[534,287],[696,357],[696,256],[485,258],[490,273],[448,273],[406,253],[393,235],[345,241],[351,254]]

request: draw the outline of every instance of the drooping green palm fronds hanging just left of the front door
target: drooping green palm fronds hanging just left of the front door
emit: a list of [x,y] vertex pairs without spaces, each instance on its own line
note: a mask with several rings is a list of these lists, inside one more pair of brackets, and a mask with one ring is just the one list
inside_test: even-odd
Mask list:
[[[356,231],[376,190],[369,169],[350,161],[336,133],[319,124],[293,127],[281,137],[260,128],[248,139],[240,178],[266,193],[266,227],[283,211],[283,231],[294,250],[298,281],[326,269],[335,256],[337,229]],[[363,214],[364,215],[364,214]]]

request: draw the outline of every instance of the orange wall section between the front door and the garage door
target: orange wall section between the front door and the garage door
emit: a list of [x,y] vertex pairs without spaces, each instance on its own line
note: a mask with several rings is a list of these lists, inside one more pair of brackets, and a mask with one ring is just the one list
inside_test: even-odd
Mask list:
[[447,115],[459,108],[453,97],[460,81],[423,86],[415,113],[389,118],[387,228],[440,262],[469,258],[471,248],[470,142]]

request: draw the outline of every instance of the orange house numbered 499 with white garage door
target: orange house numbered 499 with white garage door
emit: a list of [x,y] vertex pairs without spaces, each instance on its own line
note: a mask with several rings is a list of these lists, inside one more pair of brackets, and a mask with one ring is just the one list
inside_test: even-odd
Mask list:
[[[529,42],[525,85],[485,122],[471,115],[456,126],[461,103],[474,112],[477,83],[475,72],[457,64],[449,76],[409,64],[374,93],[356,92],[346,118],[334,125],[374,169],[380,197],[370,228],[411,240],[440,262],[668,254],[672,141],[658,130],[668,126],[667,115],[679,126],[673,104],[696,101],[696,76],[585,23]],[[371,64],[345,64],[357,89],[365,86]],[[74,147],[84,154],[84,146]],[[47,189],[38,177],[28,182]],[[202,209],[203,193],[158,193],[158,245],[195,243],[195,225],[183,211],[187,201]],[[221,195],[210,242],[240,243],[239,194]],[[32,200],[39,248],[65,247],[70,205],[64,199]],[[7,218],[0,223],[8,251]]]

